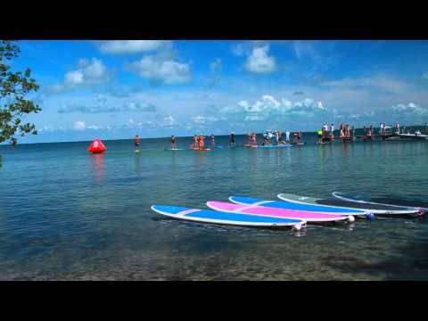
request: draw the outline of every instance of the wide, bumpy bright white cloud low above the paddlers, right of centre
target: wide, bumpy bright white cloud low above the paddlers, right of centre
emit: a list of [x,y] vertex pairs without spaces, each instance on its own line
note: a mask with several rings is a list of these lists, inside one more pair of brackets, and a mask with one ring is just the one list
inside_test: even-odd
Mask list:
[[235,106],[221,108],[221,113],[243,114],[244,120],[267,120],[278,116],[313,117],[317,112],[325,111],[322,102],[306,98],[302,101],[292,101],[287,98],[277,100],[272,95],[263,95],[255,103],[240,101]]

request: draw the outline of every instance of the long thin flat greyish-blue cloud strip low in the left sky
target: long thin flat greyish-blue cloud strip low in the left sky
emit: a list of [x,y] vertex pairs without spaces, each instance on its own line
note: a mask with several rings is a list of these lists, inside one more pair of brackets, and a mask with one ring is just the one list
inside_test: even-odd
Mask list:
[[85,106],[85,105],[65,105],[58,109],[58,113],[104,113],[104,112],[125,112],[125,111],[137,111],[137,112],[155,112],[156,106],[152,103],[135,103],[129,102],[122,106]]

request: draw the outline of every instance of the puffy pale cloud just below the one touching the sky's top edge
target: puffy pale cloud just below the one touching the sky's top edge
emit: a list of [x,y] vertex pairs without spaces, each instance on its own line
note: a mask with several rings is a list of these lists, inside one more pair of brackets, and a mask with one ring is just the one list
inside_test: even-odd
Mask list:
[[152,55],[129,63],[128,70],[136,72],[140,77],[148,78],[153,83],[165,85],[182,84],[191,78],[190,66],[187,63],[163,60]]

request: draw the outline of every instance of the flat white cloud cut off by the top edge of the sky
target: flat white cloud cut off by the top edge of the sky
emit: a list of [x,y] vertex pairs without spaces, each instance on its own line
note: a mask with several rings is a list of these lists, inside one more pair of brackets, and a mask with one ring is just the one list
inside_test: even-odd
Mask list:
[[111,54],[145,53],[169,48],[171,45],[169,40],[106,40],[98,42],[98,48],[102,53]]

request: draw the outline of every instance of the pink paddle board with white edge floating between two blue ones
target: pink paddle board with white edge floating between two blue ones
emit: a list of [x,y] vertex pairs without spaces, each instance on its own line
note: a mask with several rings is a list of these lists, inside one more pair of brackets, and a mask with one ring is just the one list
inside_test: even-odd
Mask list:
[[307,222],[328,222],[342,219],[348,219],[349,221],[353,222],[355,220],[355,218],[351,215],[345,216],[306,210],[288,210],[265,206],[233,204],[228,202],[210,201],[207,202],[207,206],[212,210],[220,210],[230,213],[252,214],[275,218],[296,218],[306,220]]

